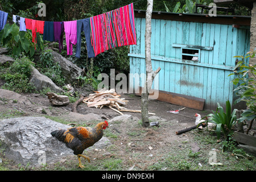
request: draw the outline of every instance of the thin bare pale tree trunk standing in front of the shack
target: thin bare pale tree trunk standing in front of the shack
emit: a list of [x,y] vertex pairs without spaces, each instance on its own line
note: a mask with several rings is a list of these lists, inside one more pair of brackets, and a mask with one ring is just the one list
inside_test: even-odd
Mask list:
[[141,94],[141,115],[142,126],[148,127],[148,96],[152,86],[152,82],[155,76],[160,71],[160,68],[156,72],[152,69],[151,64],[151,15],[153,10],[153,0],[147,0],[146,11],[146,32],[145,32],[145,61],[146,61],[146,82]]

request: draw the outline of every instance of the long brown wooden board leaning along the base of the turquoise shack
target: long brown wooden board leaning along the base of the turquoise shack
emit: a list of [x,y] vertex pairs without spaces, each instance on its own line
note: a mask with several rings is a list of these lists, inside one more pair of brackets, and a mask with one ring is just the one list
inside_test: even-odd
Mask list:
[[[172,93],[172,92],[166,92],[162,90],[154,90],[154,92],[159,92],[158,101],[168,102],[170,104],[180,105],[184,107],[189,107],[192,109],[197,110],[203,110],[204,109],[204,98],[197,98],[197,97],[191,97],[191,96],[185,96],[182,94]],[[136,94],[138,96],[141,96],[142,93],[142,87],[139,87],[139,90],[137,90]],[[151,94],[150,94],[151,96]],[[149,98],[150,98],[149,96]]]

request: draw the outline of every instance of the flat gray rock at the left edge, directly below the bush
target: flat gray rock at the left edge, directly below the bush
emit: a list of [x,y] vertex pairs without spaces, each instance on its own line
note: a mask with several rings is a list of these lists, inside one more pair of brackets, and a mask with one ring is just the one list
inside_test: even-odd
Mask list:
[[26,96],[22,96],[16,92],[5,90],[5,89],[0,89],[0,98],[2,98],[2,100],[8,100],[12,102],[17,101],[19,104],[24,104],[24,105],[32,104],[30,100],[27,99]]

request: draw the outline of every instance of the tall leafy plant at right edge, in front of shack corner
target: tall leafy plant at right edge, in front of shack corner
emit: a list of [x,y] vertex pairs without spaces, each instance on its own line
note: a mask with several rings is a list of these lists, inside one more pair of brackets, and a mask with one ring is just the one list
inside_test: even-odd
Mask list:
[[253,59],[255,53],[256,51],[251,51],[248,52],[245,57],[234,56],[242,60],[238,61],[236,67],[234,67],[234,73],[230,74],[236,75],[232,81],[234,85],[239,85],[234,89],[234,92],[236,92],[239,97],[235,103],[245,101],[248,107],[248,109],[241,114],[242,117],[238,119],[240,122],[245,120],[251,121],[256,118],[256,64],[247,64],[245,61],[247,58]]

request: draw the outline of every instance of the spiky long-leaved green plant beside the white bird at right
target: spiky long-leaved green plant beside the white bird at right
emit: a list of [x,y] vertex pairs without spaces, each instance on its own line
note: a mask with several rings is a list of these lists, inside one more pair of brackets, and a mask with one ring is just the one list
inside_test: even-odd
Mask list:
[[220,138],[221,133],[223,133],[225,140],[229,140],[234,132],[233,126],[236,124],[236,109],[234,109],[232,112],[229,101],[226,101],[226,113],[219,103],[217,103],[217,105],[218,107],[216,111],[213,111],[213,114],[207,115],[209,118],[207,122],[216,124],[216,133],[218,139]]

